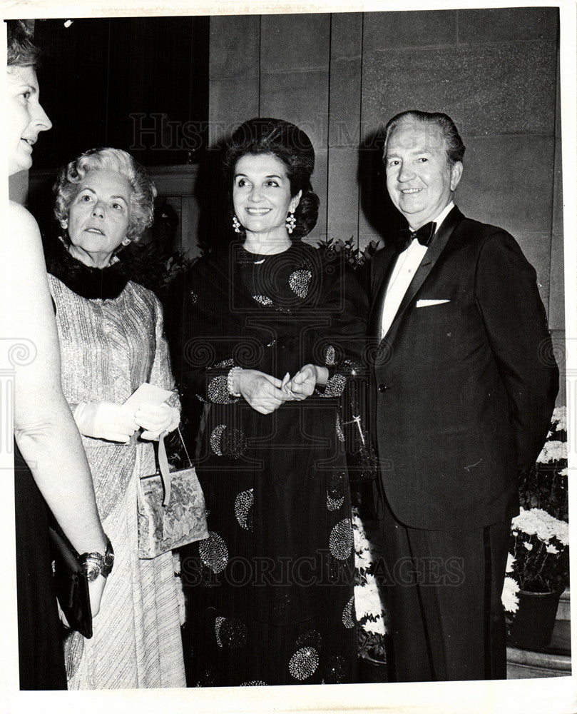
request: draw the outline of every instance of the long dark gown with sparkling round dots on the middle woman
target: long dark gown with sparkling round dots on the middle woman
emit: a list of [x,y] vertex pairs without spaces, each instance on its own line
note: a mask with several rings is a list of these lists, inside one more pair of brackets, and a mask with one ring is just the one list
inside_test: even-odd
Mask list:
[[[332,259],[331,259],[332,258]],[[240,245],[188,274],[181,386],[205,402],[196,466],[208,540],[183,559],[189,685],[356,680],[354,548],[339,395],[360,368],[367,303],[334,254]],[[230,368],[282,379],[307,363],[326,388],[262,415]]]

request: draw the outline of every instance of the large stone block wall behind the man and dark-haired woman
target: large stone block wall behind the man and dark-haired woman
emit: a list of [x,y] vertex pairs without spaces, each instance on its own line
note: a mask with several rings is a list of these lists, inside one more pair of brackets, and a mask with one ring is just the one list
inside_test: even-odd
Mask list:
[[561,126],[556,8],[213,17],[211,141],[251,116],[295,121],[317,153],[310,241],[380,238],[379,129],[404,109],[446,111],[466,144],[456,198],[510,231],[563,330]]

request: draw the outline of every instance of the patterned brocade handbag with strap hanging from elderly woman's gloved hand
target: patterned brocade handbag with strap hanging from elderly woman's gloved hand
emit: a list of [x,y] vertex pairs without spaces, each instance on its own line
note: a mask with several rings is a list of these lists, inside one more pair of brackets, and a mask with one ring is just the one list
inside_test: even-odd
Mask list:
[[188,468],[170,471],[164,436],[158,439],[158,472],[138,483],[138,558],[208,538],[204,494],[180,429]]

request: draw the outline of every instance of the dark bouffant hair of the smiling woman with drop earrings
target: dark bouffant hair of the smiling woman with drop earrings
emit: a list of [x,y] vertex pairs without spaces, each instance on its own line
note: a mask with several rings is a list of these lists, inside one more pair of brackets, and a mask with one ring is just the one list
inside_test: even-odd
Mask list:
[[[302,238],[312,231],[319,214],[319,197],[312,190],[310,177],[315,169],[315,149],[302,129],[283,119],[249,119],[235,129],[226,146],[224,169],[229,206],[233,205],[232,187],[235,167],[246,154],[272,154],[287,167],[290,195],[302,191],[295,209],[297,225],[292,238]],[[231,208],[231,216],[233,209]]]

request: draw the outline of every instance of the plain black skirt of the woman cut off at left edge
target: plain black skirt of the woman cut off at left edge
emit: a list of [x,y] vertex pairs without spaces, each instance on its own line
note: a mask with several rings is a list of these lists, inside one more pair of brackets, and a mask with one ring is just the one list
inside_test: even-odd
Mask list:
[[48,546],[48,508],[14,443],[18,652],[22,690],[66,689]]

